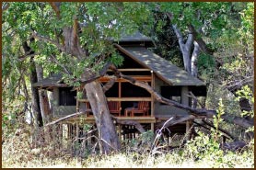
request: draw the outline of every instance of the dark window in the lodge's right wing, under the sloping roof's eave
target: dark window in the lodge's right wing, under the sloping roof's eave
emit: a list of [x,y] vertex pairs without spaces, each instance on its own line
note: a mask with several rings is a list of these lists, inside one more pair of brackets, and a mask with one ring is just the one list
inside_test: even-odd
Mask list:
[[161,85],[161,96],[181,103],[181,86]]

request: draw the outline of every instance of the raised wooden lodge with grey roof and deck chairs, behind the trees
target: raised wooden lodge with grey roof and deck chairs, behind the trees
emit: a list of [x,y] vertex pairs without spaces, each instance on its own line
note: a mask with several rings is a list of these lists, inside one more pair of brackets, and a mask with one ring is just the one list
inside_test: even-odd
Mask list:
[[[188,96],[190,91],[195,96],[206,96],[204,82],[148,50],[148,48],[153,47],[153,42],[141,33],[137,32],[133,36],[123,37],[115,43],[118,44],[115,46],[117,51],[124,59],[122,66],[118,68],[122,74],[147,82],[161,96],[187,106],[192,105],[192,99]],[[107,74],[111,75],[112,73],[108,71]],[[104,85],[109,81],[109,78],[107,76],[101,77],[99,81]],[[54,101],[51,113],[52,120],[90,107],[86,97],[77,98],[76,90],[72,86],[64,84],[61,74],[54,74],[34,84],[34,86],[52,91]],[[144,88],[130,84],[122,78],[117,79],[105,95],[112,115],[117,119],[136,120],[146,130],[155,130],[155,123],[167,120],[172,115],[188,114],[180,108],[159,103]],[[68,122],[65,123],[74,124],[78,119],[81,118],[68,119]],[[83,121],[94,123],[94,117],[88,112],[83,116]],[[185,132],[188,130],[188,126],[190,126],[189,122],[182,123],[176,128],[170,128],[170,130]],[[78,125],[76,125],[77,127]],[[125,127],[118,131],[121,137],[121,134],[125,133],[123,132]]]

